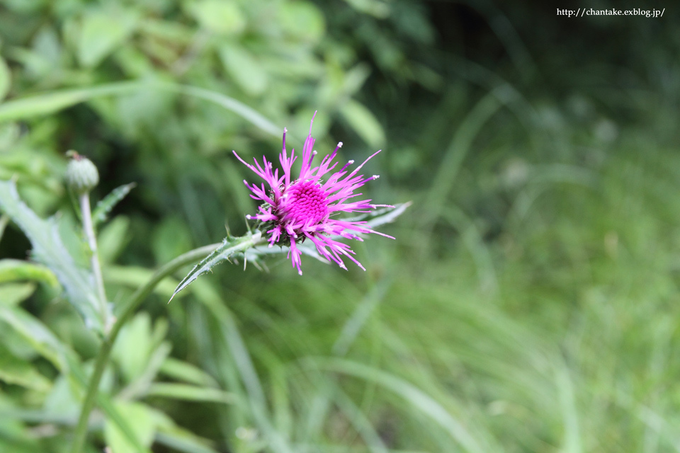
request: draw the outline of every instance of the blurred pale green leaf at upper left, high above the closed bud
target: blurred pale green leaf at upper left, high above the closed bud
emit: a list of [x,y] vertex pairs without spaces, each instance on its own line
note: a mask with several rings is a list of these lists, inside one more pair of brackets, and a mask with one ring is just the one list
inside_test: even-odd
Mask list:
[[85,67],[95,67],[135,29],[137,16],[127,11],[97,10],[83,17],[78,59]]

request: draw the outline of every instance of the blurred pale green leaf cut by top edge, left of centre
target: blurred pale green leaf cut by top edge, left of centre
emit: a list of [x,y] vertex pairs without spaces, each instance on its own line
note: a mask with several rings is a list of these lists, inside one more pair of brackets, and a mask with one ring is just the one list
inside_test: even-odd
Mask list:
[[246,18],[235,1],[190,1],[188,11],[200,26],[218,35],[239,35],[246,28]]

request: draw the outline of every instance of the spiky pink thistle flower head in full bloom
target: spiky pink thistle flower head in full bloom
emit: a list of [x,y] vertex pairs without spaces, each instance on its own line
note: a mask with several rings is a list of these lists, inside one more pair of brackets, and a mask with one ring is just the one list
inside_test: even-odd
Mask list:
[[[316,116],[316,112],[314,112]],[[263,156],[261,166],[256,159],[255,165],[247,164],[234,152],[245,166],[254,171],[260,178],[265,180],[265,185],[249,184],[246,180],[246,187],[252,192],[250,195],[255,200],[259,200],[262,205],[259,207],[259,214],[248,215],[248,219],[256,219],[265,227],[269,234],[269,246],[278,244],[289,246],[288,258],[297,268],[297,273],[302,275],[300,269],[302,252],[298,245],[310,239],[316,246],[321,256],[329,261],[334,261],[341,268],[347,269],[342,260],[346,256],[356,265],[365,270],[361,263],[353,257],[354,252],[346,243],[336,241],[331,236],[340,236],[346,239],[356,239],[363,241],[358,234],[375,233],[390,239],[395,239],[387,234],[370,229],[367,222],[342,220],[335,218],[336,214],[342,212],[370,212],[378,207],[392,207],[390,205],[371,205],[371,200],[355,201],[354,198],[361,196],[361,193],[354,193],[355,190],[370,180],[378,179],[378,175],[364,178],[357,175],[361,167],[365,165],[375,154],[368,157],[363,164],[356,167],[353,171],[348,170],[348,166],[354,163],[349,161],[339,171],[331,173],[336,167],[337,162],[333,162],[338,149],[342,147],[342,142],[334,151],[322,159],[319,166],[312,167],[312,161],[317,151],[313,151],[314,137],[312,137],[312,124],[310,124],[310,134],[302,147],[302,168],[300,175],[293,179],[291,168],[297,159],[295,149],[290,151],[288,156],[285,150],[285,133],[283,130],[283,150],[279,156],[283,175],[279,176],[278,168],[273,169],[271,162]]]

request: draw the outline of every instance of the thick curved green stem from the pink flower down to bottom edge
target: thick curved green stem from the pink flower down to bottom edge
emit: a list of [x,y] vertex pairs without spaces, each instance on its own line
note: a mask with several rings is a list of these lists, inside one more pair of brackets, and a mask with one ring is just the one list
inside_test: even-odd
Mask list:
[[196,248],[192,251],[184,253],[181,256],[178,256],[157,270],[144,286],[137,289],[135,294],[132,294],[128,304],[123,307],[123,313],[115,321],[111,331],[109,331],[108,335],[101,343],[101,348],[99,348],[94,365],[94,372],[90,377],[85,400],[83,401],[83,406],[80,410],[80,417],[78,418],[78,424],[76,425],[75,436],[71,448],[72,453],[80,453],[85,443],[85,437],[87,435],[87,423],[90,418],[90,412],[92,411],[92,408],[94,408],[94,403],[97,398],[99,382],[101,381],[101,376],[104,372],[104,369],[106,368],[106,364],[108,363],[108,357],[111,355],[113,343],[115,343],[115,339],[118,337],[118,333],[120,333],[120,328],[125,325],[132,314],[135,313],[137,307],[140,306],[140,304],[144,301],[144,299],[147,298],[149,294],[151,294],[154,287],[156,287],[156,285],[158,285],[161,280],[176,272],[183,266],[193,263],[199,258],[203,258],[205,255],[211,253],[215,250],[215,248],[221,245],[221,243],[214,243],[210,246]]

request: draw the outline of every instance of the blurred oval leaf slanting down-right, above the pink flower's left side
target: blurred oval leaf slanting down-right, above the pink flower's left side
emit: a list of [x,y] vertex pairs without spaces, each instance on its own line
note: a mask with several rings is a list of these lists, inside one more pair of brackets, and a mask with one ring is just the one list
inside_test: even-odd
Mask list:
[[254,55],[237,45],[225,44],[220,47],[220,59],[227,73],[251,95],[259,96],[267,88],[267,74]]

